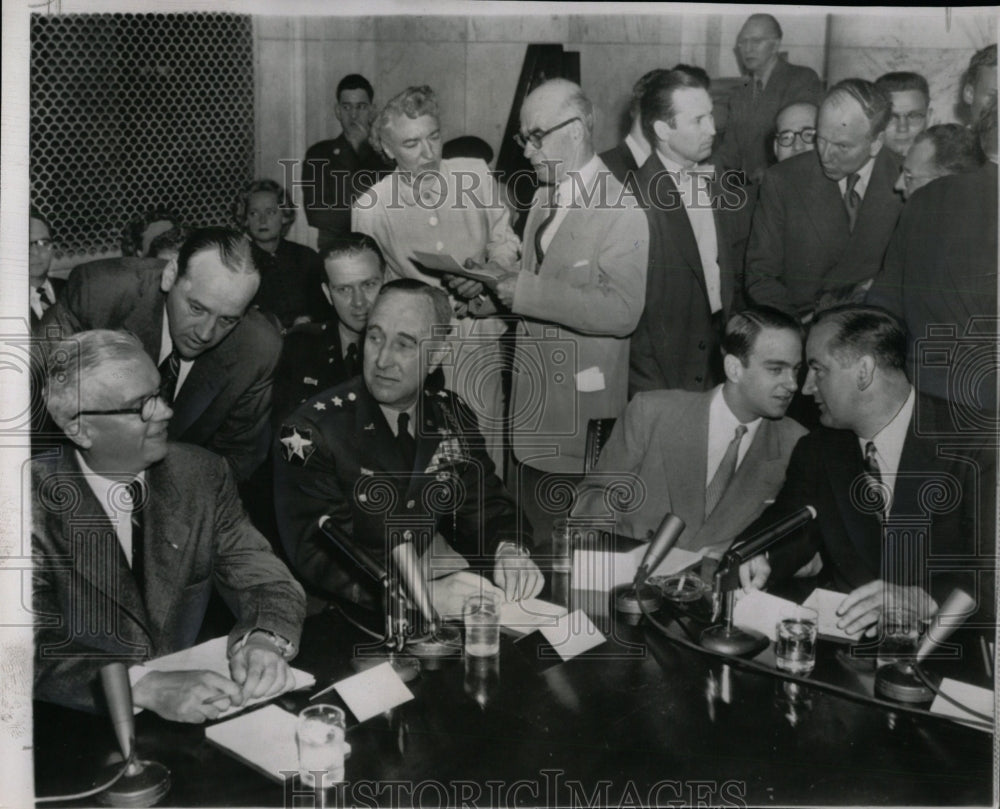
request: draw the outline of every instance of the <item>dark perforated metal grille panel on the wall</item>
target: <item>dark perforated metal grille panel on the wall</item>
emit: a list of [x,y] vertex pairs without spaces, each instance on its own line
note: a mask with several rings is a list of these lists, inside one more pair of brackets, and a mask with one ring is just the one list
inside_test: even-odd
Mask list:
[[32,16],[31,195],[57,255],[118,250],[157,204],[226,223],[253,167],[250,16]]

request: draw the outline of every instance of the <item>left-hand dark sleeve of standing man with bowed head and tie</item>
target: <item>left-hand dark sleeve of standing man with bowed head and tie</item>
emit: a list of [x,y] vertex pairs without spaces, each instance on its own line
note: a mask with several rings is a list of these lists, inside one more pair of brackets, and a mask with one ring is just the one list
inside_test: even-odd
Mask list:
[[746,293],[753,303],[795,312],[785,286],[785,199],[772,171],[765,172],[747,244]]

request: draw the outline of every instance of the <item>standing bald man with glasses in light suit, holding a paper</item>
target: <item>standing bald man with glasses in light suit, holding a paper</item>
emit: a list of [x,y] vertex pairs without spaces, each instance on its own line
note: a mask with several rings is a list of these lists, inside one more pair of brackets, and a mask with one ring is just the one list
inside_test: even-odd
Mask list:
[[583,470],[587,422],[625,406],[629,337],[646,287],[646,217],[594,153],[593,123],[590,100],[571,81],[552,79],[525,98],[517,138],[541,185],[525,222],[520,270],[493,269],[488,285],[521,317],[514,457],[560,474]]

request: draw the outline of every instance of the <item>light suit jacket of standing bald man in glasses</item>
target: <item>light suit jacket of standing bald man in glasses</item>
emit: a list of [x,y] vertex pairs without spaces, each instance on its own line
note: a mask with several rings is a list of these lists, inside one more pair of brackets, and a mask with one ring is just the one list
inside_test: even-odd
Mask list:
[[524,228],[511,436],[515,457],[546,471],[583,471],[588,420],[625,406],[629,337],[645,303],[646,215],[603,162],[594,184],[586,206],[566,213],[541,266],[533,245],[548,188]]

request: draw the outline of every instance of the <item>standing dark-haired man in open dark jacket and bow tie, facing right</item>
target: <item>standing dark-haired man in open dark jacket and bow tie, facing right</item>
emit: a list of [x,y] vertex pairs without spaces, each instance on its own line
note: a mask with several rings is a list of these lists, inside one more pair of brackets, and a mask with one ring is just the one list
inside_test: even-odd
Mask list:
[[663,71],[641,101],[654,153],[639,170],[649,222],[646,300],[632,336],[629,393],[708,390],[722,377],[719,341],[739,289],[740,187],[714,182],[712,97],[696,76]]

